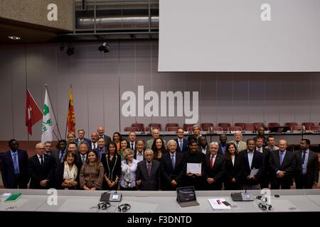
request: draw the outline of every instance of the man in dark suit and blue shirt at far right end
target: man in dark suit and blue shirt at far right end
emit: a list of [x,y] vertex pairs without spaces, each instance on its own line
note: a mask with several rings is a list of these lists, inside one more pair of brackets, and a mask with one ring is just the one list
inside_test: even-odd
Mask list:
[[294,172],[294,179],[297,189],[312,189],[319,180],[319,157],[317,153],[309,150],[310,140],[300,141],[301,150],[297,150],[297,167]]

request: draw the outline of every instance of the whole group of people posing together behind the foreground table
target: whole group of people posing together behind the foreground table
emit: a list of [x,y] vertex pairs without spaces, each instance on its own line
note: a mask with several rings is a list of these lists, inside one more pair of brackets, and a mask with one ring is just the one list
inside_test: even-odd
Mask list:
[[238,131],[230,142],[220,135],[219,143],[208,143],[195,125],[193,135],[184,138],[178,128],[177,138],[166,143],[157,128],[145,142],[134,132],[128,139],[116,132],[111,139],[99,126],[91,140],[82,129],[78,138],[69,133],[68,141],[59,140],[56,150],[50,141],[38,143],[30,158],[12,139],[10,150],[0,156],[1,174],[4,187],[10,189],[28,184],[31,189],[84,190],[290,189],[294,182],[297,189],[316,186],[319,160],[309,150],[310,141],[302,139],[300,150],[292,152],[286,140],[276,146],[274,137],[265,138],[264,131],[260,128],[246,142]]

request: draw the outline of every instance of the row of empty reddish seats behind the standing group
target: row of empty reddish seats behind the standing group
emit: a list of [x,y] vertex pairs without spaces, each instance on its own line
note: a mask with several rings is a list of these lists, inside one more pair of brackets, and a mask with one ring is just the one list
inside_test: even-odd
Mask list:
[[[164,131],[177,131],[179,128],[178,123],[166,123]],[[183,131],[192,131],[193,124],[184,123]],[[230,123],[218,123],[218,126],[214,126],[213,123],[201,123],[201,131],[257,131],[259,128],[265,128],[265,130],[272,130],[274,127],[282,127],[280,123],[272,122],[265,126],[265,123],[235,123],[233,126]],[[311,131],[319,131],[320,123],[316,125],[313,122],[303,122],[301,125],[295,122],[284,123],[284,127],[288,127],[292,131],[302,131],[303,128]],[[163,131],[161,123],[149,123],[144,127],[144,123],[132,123],[130,127],[125,127],[124,131],[150,131],[152,128],[158,128],[159,131]]]

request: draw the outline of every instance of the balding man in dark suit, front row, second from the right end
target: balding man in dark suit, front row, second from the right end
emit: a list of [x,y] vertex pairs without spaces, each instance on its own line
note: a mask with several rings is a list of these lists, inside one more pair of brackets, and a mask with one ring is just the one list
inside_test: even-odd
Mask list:
[[286,150],[286,140],[279,140],[278,146],[279,150],[270,153],[271,189],[290,189],[297,165],[296,156]]

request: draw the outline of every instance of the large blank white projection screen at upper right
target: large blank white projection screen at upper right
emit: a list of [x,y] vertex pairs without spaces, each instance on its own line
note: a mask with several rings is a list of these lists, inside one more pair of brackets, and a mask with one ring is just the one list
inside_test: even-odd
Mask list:
[[159,0],[159,72],[320,72],[320,0]]

